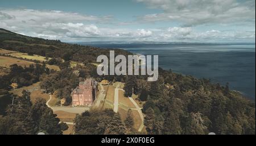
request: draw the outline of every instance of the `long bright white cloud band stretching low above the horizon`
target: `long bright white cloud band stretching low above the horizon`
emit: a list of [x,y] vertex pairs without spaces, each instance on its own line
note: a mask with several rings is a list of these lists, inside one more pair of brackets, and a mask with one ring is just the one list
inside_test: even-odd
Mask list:
[[[141,0],[143,1],[143,0]],[[167,1],[155,1],[164,3]],[[180,1],[179,5],[187,5]],[[160,5],[160,4],[159,4]],[[157,6],[157,5],[155,5]],[[161,6],[168,10],[168,5]],[[216,8],[217,9],[217,8]],[[158,15],[155,15],[155,19]],[[177,16],[177,18],[179,18]],[[111,16],[90,16],[72,12],[50,10],[11,9],[0,10],[0,28],[23,35],[43,37],[45,39],[60,39],[62,41],[96,41],[96,40],[147,40],[147,41],[202,41],[214,42],[233,40],[255,41],[255,29],[251,31],[217,30],[196,31],[193,27],[168,28],[118,28],[103,27]],[[172,19],[176,19],[172,17]],[[100,24],[99,24],[100,23]]]

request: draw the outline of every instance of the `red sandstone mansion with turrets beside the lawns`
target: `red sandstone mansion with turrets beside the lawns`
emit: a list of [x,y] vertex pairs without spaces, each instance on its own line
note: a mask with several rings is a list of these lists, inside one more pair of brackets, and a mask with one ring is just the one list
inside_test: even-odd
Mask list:
[[96,97],[97,82],[92,78],[86,78],[84,82],[80,82],[71,93],[73,106],[92,106]]

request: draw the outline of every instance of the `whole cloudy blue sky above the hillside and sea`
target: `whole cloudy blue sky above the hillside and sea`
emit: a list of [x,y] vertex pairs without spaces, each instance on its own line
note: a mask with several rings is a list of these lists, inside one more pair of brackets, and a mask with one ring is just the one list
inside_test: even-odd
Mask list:
[[255,43],[255,0],[1,0],[0,28],[66,42]]

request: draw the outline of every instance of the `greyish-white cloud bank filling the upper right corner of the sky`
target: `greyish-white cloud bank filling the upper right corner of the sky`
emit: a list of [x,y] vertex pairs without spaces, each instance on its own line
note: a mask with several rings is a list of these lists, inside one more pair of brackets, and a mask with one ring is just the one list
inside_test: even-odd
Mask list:
[[[177,20],[183,26],[208,23],[243,23],[255,26],[255,0],[137,0],[151,9],[162,9],[158,14],[139,16],[139,22]],[[254,22],[254,24],[252,23]]]

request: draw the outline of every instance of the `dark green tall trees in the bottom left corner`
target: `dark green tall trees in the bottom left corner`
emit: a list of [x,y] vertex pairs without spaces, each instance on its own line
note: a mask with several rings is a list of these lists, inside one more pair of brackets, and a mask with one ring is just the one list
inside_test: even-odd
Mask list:
[[30,102],[30,92],[23,90],[7,107],[6,116],[0,118],[0,134],[62,134],[59,119],[46,106],[45,99]]

